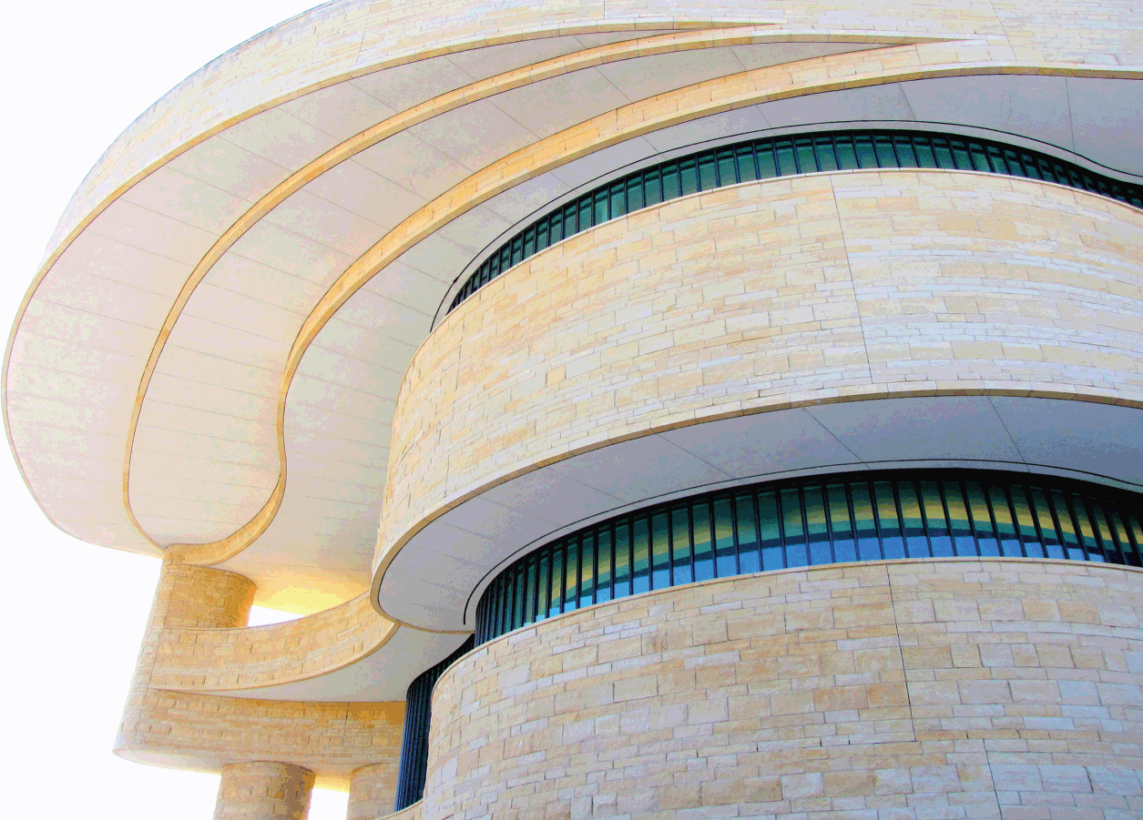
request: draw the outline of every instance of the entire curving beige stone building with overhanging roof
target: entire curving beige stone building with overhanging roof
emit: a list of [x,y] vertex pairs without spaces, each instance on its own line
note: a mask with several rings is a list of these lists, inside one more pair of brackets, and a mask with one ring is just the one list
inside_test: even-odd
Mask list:
[[210,63],[6,361],[45,514],[163,561],[115,751],[216,818],[1143,815],[1141,80],[1127,0]]

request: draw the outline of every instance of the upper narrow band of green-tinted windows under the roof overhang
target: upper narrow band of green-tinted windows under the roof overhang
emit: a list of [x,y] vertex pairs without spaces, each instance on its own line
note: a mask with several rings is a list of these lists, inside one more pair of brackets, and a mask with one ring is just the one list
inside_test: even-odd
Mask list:
[[1143,187],[1138,185],[1002,143],[914,131],[831,131],[754,139],[629,174],[557,208],[491,254],[465,280],[448,312],[545,248],[641,208],[756,179],[862,168],[941,168],[1006,174],[1058,183],[1143,208]]

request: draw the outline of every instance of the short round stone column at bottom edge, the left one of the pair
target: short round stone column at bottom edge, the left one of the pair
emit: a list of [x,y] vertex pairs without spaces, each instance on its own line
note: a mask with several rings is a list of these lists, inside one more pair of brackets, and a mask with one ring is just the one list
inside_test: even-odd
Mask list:
[[305,820],[313,772],[290,763],[231,763],[222,767],[214,820]]

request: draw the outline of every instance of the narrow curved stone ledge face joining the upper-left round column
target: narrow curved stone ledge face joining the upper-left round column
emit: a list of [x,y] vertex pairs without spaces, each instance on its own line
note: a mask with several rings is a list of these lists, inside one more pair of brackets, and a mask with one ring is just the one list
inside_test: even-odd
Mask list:
[[253,628],[167,627],[154,649],[151,685],[226,692],[297,683],[347,667],[384,646],[398,626],[368,595],[283,624]]

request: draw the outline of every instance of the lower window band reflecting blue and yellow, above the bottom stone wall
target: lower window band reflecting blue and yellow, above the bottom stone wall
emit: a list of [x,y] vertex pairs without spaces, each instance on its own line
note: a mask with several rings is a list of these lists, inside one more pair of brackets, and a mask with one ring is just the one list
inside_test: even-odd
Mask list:
[[513,562],[480,597],[475,641],[652,589],[786,568],[954,556],[1141,566],[1141,500],[1064,480],[948,471],[705,493],[618,516]]

